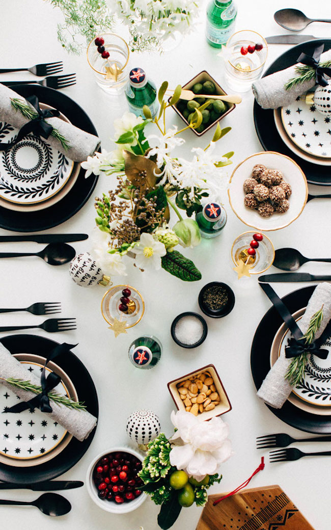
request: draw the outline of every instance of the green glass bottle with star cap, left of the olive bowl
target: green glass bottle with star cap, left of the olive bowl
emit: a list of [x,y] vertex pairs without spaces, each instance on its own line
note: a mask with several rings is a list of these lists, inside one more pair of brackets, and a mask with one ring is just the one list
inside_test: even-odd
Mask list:
[[133,68],[125,88],[130,112],[145,118],[142,107],[147,105],[154,118],[158,110],[157,91],[153,81],[149,81],[142,68]]

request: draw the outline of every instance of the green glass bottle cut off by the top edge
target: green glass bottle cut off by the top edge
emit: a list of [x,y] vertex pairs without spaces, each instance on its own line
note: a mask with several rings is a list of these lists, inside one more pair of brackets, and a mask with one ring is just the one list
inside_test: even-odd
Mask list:
[[205,36],[210,46],[221,48],[235,30],[237,6],[232,0],[210,0]]

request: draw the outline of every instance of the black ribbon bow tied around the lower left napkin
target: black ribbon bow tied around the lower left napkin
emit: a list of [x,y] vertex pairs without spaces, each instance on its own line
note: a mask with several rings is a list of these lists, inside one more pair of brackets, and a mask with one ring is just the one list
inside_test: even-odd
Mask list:
[[44,367],[41,371],[40,376],[40,383],[41,383],[41,393],[37,394],[32,398],[30,401],[21,401],[20,403],[17,403],[10,409],[6,409],[5,412],[23,412],[23,410],[26,409],[40,409],[41,412],[52,412],[52,408],[49,403],[49,397],[48,393],[55,388],[59,382],[61,381],[61,377],[54,372],[51,372],[48,377],[46,377],[46,366],[49,363],[50,360],[55,359],[61,354],[66,354],[71,348],[75,348],[77,344],[67,344],[64,342],[63,344],[59,344],[55,348],[53,348],[50,353],[48,354],[48,357],[46,359],[46,362],[44,364]]

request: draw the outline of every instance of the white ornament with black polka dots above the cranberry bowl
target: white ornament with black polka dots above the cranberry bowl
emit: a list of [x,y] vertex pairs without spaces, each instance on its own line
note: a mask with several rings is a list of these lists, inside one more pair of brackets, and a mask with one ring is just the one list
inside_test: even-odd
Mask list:
[[138,447],[146,451],[146,445],[160,434],[160,421],[151,410],[136,410],[127,421],[127,434]]

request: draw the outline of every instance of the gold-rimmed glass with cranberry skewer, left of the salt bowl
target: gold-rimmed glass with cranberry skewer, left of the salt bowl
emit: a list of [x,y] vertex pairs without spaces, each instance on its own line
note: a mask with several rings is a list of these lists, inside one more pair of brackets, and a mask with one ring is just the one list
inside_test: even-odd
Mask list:
[[[130,289],[131,294],[129,296],[130,304],[128,305],[128,312],[123,313],[120,311],[120,298],[123,296],[122,290]],[[101,313],[105,321],[111,326],[114,320],[126,322],[126,329],[132,328],[142,319],[142,315],[145,312],[145,302],[141,294],[137,289],[130,285],[114,285],[102,297],[101,301]]]

